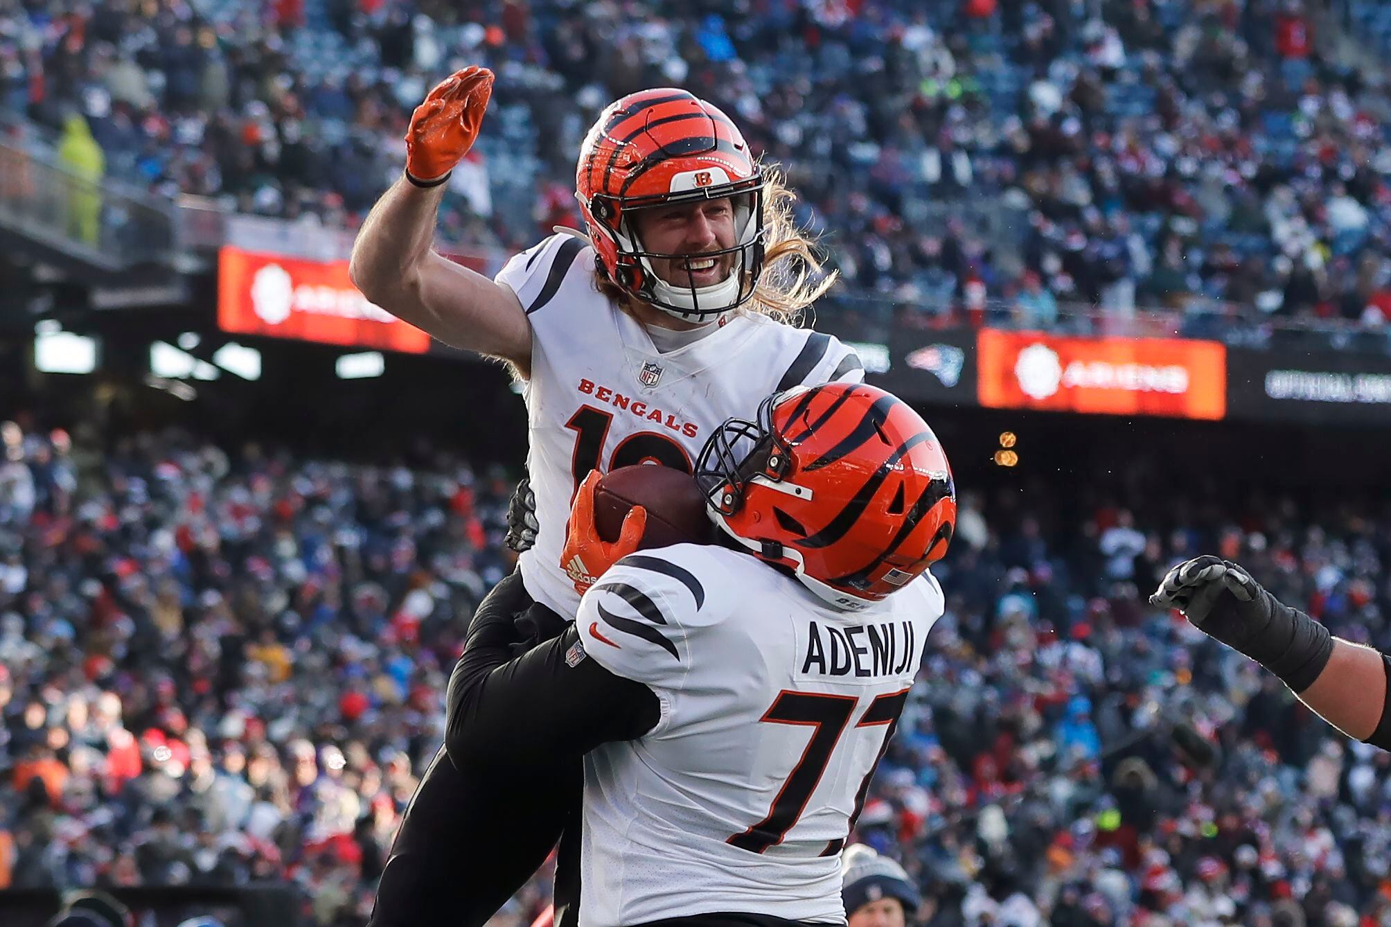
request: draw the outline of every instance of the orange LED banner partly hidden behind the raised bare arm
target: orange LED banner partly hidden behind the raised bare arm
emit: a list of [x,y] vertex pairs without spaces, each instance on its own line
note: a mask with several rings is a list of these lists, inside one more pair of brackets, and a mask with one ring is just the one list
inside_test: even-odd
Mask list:
[[352,285],[346,260],[303,260],[224,246],[217,260],[223,331],[351,348],[424,354],[430,335],[387,313]]

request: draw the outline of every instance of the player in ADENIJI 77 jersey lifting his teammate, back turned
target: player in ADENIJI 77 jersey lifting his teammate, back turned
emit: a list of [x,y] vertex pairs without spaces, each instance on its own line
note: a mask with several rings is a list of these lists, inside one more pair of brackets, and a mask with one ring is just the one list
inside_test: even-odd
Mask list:
[[844,923],[840,852],[943,611],[951,472],[907,404],[839,383],[730,419],[696,472],[723,543],[625,557],[520,657],[480,611],[445,743],[480,777],[584,757],[559,924]]

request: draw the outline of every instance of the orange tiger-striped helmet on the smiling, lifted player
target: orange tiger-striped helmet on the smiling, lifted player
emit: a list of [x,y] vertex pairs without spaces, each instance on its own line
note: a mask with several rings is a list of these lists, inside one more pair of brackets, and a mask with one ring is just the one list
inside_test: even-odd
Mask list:
[[[683,319],[712,322],[748,302],[764,270],[764,174],[743,134],[718,107],[675,88],[611,103],[580,146],[574,192],[602,273],[629,295]],[[651,259],[687,270],[694,255],[645,251],[633,210],[729,196],[736,255],[729,277],[708,287],[672,285]]]

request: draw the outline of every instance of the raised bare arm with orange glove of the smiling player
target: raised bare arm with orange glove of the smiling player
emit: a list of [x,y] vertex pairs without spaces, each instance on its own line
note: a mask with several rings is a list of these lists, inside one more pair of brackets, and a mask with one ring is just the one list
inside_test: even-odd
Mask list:
[[353,242],[349,274],[367,299],[445,344],[527,373],[531,326],[516,294],[431,249],[445,182],[479,134],[492,72],[465,68],[416,107],[406,175],[377,200]]

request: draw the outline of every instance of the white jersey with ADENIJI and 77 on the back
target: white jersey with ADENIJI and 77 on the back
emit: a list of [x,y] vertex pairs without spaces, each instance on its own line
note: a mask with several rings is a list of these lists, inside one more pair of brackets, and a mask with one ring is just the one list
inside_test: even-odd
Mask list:
[[942,610],[931,573],[844,612],[714,546],[604,573],[568,660],[645,683],[661,720],[584,759],[580,927],[843,923],[840,848]]

